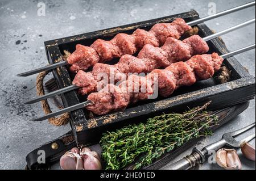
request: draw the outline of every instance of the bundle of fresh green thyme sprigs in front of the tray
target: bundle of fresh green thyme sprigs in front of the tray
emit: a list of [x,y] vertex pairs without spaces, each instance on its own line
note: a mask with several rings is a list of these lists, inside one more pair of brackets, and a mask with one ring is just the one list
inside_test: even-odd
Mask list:
[[105,133],[100,141],[105,169],[140,169],[192,138],[212,134],[209,127],[217,123],[217,116],[204,111],[207,105]]

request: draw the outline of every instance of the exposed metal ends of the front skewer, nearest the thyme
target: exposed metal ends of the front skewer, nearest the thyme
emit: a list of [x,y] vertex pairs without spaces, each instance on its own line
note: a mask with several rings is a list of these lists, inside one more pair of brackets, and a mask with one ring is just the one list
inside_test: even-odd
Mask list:
[[[238,49],[238,50],[235,50],[235,51],[227,53],[227,54],[223,54],[221,57],[229,58],[229,57],[232,57],[236,54],[240,54],[240,53],[246,52],[247,50],[251,50],[251,49],[254,49],[254,48],[255,48],[255,44],[244,47],[244,48],[241,48],[241,49]],[[38,118],[36,118],[32,121],[43,121],[43,120],[49,119],[51,117],[61,115],[61,114],[66,113],[66,112],[79,110],[80,108],[86,107],[89,104],[93,104],[93,103],[90,100],[86,100],[85,102],[82,102],[82,103],[64,108],[64,109],[56,111],[56,112],[49,113],[48,115],[44,115],[42,117],[38,117]]]

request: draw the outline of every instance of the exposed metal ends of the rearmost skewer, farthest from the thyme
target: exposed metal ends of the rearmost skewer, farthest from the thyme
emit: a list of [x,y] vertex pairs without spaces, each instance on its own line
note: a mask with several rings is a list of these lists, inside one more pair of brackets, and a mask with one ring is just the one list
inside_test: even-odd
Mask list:
[[[229,9],[229,10],[221,11],[221,12],[218,12],[218,13],[213,14],[213,15],[205,16],[204,18],[194,20],[194,21],[189,22],[187,24],[190,25],[190,26],[195,26],[196,24],[203,23],[207,20],[218,18],[220,16],[224,16],[224,15],[230,14],[232,12],[240,11],[240,10],[246,9],[248,7],[251,7],[251,6],[255,6],[255,1],[250,2],[250,3],[246,3],[245,5],[234,7],[234,8]],[[44,66],[42,68],[38,68],[38,69],[26,71],[24,73],[16,74],[16,76],[27,77],[28,75],[36,74],[36,73],[39,73],[41,71],[49,71],[49,70],[55,69],[55,68],[60,67],[60,66],[65,66],[65,65],[68,65],[68,62],[67,61],[61,61],[61,62],[57,62],[57,63],[52,64],[52,65]]]

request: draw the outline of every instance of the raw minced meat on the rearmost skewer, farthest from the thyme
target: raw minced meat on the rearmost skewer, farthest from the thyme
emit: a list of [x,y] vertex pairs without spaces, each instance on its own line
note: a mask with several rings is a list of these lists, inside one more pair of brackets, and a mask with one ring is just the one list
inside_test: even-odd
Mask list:
[[159,47],[168,37],[179,39],[188,30],[191,30],[191,27],[178,18],[172,23],[155,24],[150,31],[137,29],[132,35],[118,33],[112,40],[98,39],[90,47],[77,45],[67,61],[72,64],[71,71],[86,70],[97,62],[110,61],[124,54],[134,54],[146,44]]

